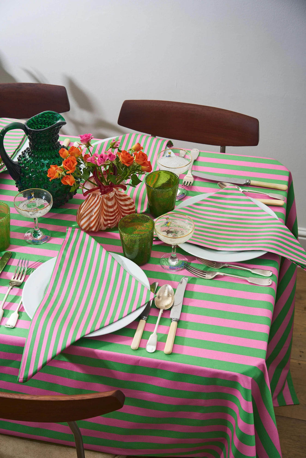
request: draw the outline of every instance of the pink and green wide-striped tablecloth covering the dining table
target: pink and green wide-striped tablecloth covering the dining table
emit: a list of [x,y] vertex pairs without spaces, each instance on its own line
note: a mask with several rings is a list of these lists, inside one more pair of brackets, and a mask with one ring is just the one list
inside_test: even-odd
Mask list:
[[[140,142],[152,162],[166,143],[141,134],[123,136],[123,142]],[[247,153],[247,149],[240,152]],[[277,160],[201,152],[195,169],[227,175],[228,181],[231,176],[247,176],[288,184],[288,195],[278,191],[286,196],[284,207],[272,208],[297,235],[291,175]],[[194,196],[216,190],[216,183],[196,179],[188,193]],[[0,200],[11,207],[9,249],[13,253],[0,276],[1,300],[20,257],[27,255],[31,267],[38,267],[57,255],[67,227],[77,227],[76,211],[83,196],[78,193],[64,207],[52,208],[40,218],[40,225],[51,230],[52,239],[32,247],[23,240],[25,229],[32,223],[14,210],[17,190],[5,172],[0,174],[0,192]],[[143,211],[144,185],[129,192],[138,211]],[[90,235],[107,251],[122,254],[117,229]],[[188,273],[162,269],[159,259],[168,251],[168,245],[154,244],[151,259],[142,268],[150,283],[157,280],[159,286],[168,283],[176,289]],[[188,259],[196,263],[194,256],[188,255]],[[30,319],[21,309],[17,327],[4,326],[22,293],[13,289],[0,326],[0,390],[74,394],[121,389],[126,396],[121,410],[78,422],[85,447],[93,450],[161,457],[280,457],[273,405],[298,403],[289,371],[296,266],[272,253],[243,264],[271,269],[271,287],[229,277],[205,280],[189,274],[172,354],[163,352],[170,311],[161,318],[156,352],[145,351],[158,315],[153,307],[138,350],[130,348],[138,324],[135,321],[111,334],[81,338],[23,384],[17,382],[17,376]],[[73,445],[66,424],[33,427],[2,420],[0,432]]]

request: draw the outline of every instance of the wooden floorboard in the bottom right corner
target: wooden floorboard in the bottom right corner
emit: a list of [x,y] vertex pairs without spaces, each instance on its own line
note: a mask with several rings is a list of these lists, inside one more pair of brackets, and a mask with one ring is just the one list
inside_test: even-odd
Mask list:
[[276,417],[283,458],[305,458],[306,421]]

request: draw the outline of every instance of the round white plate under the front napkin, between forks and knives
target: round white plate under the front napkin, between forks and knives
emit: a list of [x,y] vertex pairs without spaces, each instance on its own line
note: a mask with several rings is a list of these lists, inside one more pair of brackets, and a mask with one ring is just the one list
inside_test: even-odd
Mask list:
[[[110,253],[110,255],[115,258],[115,260],[130,274],[133,275],[136,280],[143,284],[146,288],[150,289],[150,284],[147,276],[144,271],[137,266],[133,261],[130,261],[128,258],[118,255],[117,253]],[[28,316],[32,319],[35,311],[37,310],[40,302],[42,301],[45,290],[48,287],[50,278],[55,266],[56,258],[49,259],[44,264],[41,264],[33,273],[29,276],[28,280],[24,284],[22,289],[22,303],[24,310],[27,312]],[[93,333],[88,334],[85,337],[95,337],[102,336],[104,334],[113,333],[122,329],[122,327],[127,326],[129,323],[134,321],[140,313],[145,310],[145,305],[130,313],[127,316],[121,318],[114,323],[111,323],[102,329],[98,329]]]

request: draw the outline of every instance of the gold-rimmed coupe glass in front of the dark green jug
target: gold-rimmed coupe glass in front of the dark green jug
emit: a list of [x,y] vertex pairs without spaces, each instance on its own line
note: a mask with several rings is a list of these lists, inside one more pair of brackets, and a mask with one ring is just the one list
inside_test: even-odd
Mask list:
[[34,229],[30,229],[24,234],[24,239],[28,243],[41,245],[50,239],[50,231],[48,229],[40,229],[37,218],[48,213],[52,203],[52,196],[45,189],[26,189],[15,196],[14,205],[17,212],[22,216],[34,219]]

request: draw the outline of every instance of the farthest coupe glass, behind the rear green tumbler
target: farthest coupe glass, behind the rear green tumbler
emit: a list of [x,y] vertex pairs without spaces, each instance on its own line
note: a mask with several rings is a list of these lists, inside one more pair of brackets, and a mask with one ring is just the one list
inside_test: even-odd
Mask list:
[[[192,161],[191,153],[183,148],[168,148],[157,154],[156,162],[160,170],[168,170],[176,175],[187,172]],[[178,188],[177,200],[183,199],[187,191],[184,188]]]

